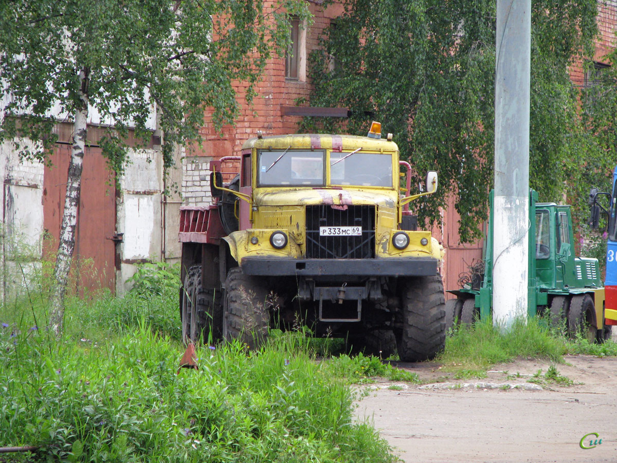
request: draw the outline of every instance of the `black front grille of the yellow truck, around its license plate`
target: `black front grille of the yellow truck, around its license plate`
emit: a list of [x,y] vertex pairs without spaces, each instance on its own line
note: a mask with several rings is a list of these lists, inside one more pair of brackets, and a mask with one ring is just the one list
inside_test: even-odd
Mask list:
[[[306,225],[310,259],[375,257],[375,206],[307,206]],[[362,236],[320,236],[319,227],[362,227]]]

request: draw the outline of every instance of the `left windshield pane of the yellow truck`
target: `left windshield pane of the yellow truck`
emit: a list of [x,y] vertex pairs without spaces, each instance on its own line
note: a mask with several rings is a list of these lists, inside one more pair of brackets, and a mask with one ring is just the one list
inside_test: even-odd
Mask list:
[[257,184],[323,186],[324,154],[324,151],[260,151]]

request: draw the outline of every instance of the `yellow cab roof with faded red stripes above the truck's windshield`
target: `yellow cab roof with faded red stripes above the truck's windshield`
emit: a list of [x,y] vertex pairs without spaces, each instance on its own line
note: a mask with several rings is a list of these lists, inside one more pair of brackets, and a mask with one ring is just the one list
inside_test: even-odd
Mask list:
[[242,149],[332,149],[333,151],[399,151],[394,141],[356,135],[329,135],[325,133],[297,133],[293,135],[264,136],[251,138]]

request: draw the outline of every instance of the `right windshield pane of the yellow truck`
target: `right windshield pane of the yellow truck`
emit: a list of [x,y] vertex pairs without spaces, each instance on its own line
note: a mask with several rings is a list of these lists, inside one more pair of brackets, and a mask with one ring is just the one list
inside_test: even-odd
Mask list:
[[370,152],[331,152],[333,185],[392,186],[392,155]]

